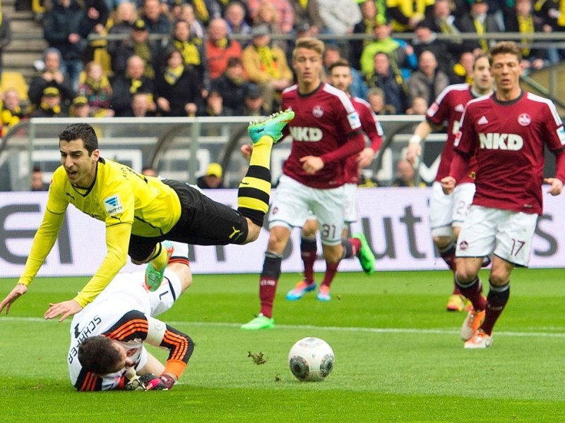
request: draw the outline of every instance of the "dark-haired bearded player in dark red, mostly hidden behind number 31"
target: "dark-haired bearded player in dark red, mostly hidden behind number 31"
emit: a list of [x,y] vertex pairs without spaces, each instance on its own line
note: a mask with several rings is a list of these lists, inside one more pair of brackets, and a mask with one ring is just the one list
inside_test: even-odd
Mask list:
[[[350,86],[353,82],[351,75],[351,67],[346,59],[339,59],[332,63],[328,68],[328,82],[343,92],[349,94]],[[361,168],[369,166],[373,161],[376,153],[381,148],[383,129],[377,120],[369,103],[358,97],[351,97],[351,103],[361,121],[361,127],[365,135],[369,138],[370,147],[365,147],[359,154],[353,154],[347,158],[345,165],[345,180],[343,185],[345,190],[345,226],[343,228],[342,238],[347,238],[349,233],[349,225],[357,221],[357,183],[359,183],[359,171]],[[300,238],[300,255],[304,263],[304,278],[299,281],[295,288],[287,293],[287,300],[299,300],[304,294],[316,289],[314,281],[314,262],[316,262],[316,231],[318,224],[315,216],[308,219],[307,223],[302,227]],[[316,297],[320,301],[331,300],[330,287],[337,272],[337,267],[326,263],[326,274],[323,276],[323,282],[320,286]]]

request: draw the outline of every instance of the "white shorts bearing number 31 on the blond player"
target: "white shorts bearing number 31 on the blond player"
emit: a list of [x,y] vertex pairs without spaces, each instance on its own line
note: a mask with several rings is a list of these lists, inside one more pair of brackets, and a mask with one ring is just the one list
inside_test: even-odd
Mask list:
[[307,219],[311,219],[311,214],[314,214],[322,244],[338,245],[343,231],[344,202],[343,186],[328,190],[310,188],[283,175],[270,207],[269,228],[302,228]]

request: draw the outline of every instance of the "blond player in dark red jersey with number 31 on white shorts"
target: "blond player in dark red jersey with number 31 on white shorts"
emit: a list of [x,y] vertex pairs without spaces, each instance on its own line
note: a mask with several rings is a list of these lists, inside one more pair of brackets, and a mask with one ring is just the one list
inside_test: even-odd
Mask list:
[[347,94],[321,81],[322,54],[323,42],[311,37],[299,38],[292,52],[298,84],[283,92],[281,102],[283,109],[295,112],[285,128],[292,147],[270,207],[269,242],[259,279],[261,312],[242,329],[274,326],[273,300],[283,251],[292,228],[304,226],[309,211],[318,219],[328,264],[337,269],[341,259],[357,255],[364,271],[374,272],[374,255],[364,236],[341,239],[345,159],[364,148],[364,138]]

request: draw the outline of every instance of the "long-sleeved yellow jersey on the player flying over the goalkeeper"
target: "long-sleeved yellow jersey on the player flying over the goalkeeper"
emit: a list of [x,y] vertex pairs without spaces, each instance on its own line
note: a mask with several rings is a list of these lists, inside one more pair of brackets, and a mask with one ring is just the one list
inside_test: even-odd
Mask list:
[[71,185],[60,166],[53,173],[47,209],[18,283],[30,285],[57,240],[69,204],[106,224],[107,253],[94,276],[74,298],[81,307],[94,300],[126,264],[131,233],[162,235],[181,216],[177,193],[158,178],[100,158],[93,185],[82,189]]

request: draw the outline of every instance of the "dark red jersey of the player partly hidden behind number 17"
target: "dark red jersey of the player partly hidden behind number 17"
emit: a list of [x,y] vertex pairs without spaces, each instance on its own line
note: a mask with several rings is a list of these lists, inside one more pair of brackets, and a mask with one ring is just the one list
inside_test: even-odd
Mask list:
[[[465,104],[474,98],[475,96],[471,92],[470,85],[449,85],[437,96],[436,101],[432,106],[429,106],[426,112],[427,120],[434,125],[445,125],[447,123],[447,140],[441,152],[441,159],[435,179],[437,181],[449,175],[449,166],[451,166],[454,154],[453,140],[455,140],[455,136],[459,130],[459,121],[463,115],[463,110],[465,110]],[[458,183],[473,182],[469,174],[474,172],[476,167],[477,161],[473,157],[469,163],[467,175],[458,181]]]

